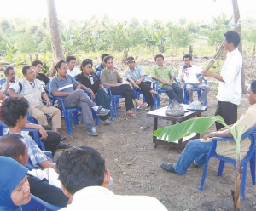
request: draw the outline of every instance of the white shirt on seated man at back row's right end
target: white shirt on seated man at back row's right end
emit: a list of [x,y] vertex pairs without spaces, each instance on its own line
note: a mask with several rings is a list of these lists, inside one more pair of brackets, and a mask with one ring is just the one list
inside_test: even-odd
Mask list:
[[185,83],[200,83],[196,77],[197,74],[201,73],[202,69],[199,66],[182,66],[179,69],[178,77],[183,76]]

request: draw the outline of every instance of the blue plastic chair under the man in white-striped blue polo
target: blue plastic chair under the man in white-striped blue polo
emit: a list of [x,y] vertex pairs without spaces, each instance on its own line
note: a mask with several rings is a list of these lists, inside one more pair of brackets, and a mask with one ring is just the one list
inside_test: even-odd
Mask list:
[[[49,83],[47,83],[47,89],[49,90],[49,85],[50,85],[51,80]],[[59,109],[61,110],[61,113],[63,114],[65,118],[65,123],[67,127],[67,134],[72,135],[73,134],[73,129],[72,129],[72,117],[73,117],[73,124],[79,124],[79,115],[78,112],[81,112],[82,109],[79,107],[74,107],[74,108],[66,108],[64,104],[64,100],[61,97],[55,97],[55,100],[58,100],[59,104]],[[92,110],[92,114],[94,116],[94,111]],[[82,115],[82,114],[81,114]],[[99,117],[96,115],[94,116],[96,118],[96,125],[99,124]]]

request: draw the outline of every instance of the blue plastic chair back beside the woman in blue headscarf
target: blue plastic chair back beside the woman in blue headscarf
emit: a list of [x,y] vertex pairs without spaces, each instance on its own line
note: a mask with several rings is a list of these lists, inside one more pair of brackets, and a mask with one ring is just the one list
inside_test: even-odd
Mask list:
[[49,204],[48,202],[44,202],[43,200],[41,200],[38,197],[35,197],[31,194],[31,201],[28,202],[25,205],[21,206],[23,211],[32,211],[32,210],[36,210],[36,211],[56,211],[56,210],[60,210],[61,206],[55,206],[52,204]]

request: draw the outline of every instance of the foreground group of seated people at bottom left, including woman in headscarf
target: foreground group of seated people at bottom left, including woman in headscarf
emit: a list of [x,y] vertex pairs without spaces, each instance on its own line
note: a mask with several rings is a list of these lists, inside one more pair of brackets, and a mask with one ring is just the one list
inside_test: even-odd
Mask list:
[[[112,210],[167,210],[154,197],[119,196],[109,191],[113,180],[105,161],[89,146],[63,151],[53,163],[32,137],[21,134],[28,109],[24,97],[3,100],[1,116],[9,133],[0,137],[0,210],[19,210],[30,202],[31,194],[52,205],[67,207],[63,210],[101,210],[105,206]],[[28,160],[38,169],[28,170]]]

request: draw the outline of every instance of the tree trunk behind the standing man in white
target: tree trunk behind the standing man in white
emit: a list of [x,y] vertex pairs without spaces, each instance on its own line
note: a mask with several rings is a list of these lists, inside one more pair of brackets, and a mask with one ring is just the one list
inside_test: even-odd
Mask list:
[[[240,12],[239,12],[239,7],[238,7],[237,0],[232,0],[232,4],[233,4],[233,15],[234,15],[235,28],[236,28],[236,31],[240,35],[240,43],[238,45],[238,49],[242,54],[241,24],[238,23],[238,21],[240,21]],[[244,65],[241,67],[241,88],[242,88],[242,93],[247,94],[247,89],[245,88]]]

